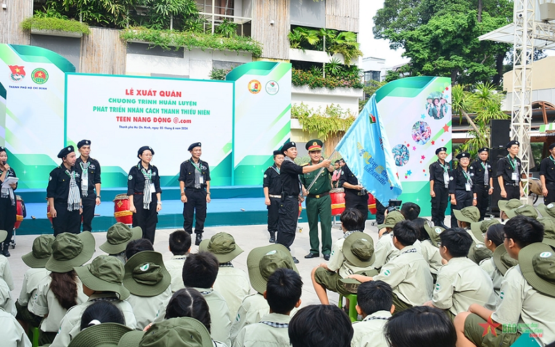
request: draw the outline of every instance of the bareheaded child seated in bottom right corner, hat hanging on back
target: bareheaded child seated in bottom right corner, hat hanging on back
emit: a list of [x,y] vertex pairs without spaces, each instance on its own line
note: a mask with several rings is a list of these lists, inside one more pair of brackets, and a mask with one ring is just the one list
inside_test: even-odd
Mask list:
[[[456,315],[457,346],[510,346],[520,335],[531,333],[526,327],[536,332],[541,346],[555,341],[554,249],[542,243],[543,226],[536,219],[513,217],[504,232],[504,246],[518,265],[505,273],[501,303],[495,311],[474,304],[468,312]],[[494,327],[496,334],[489,331]]]

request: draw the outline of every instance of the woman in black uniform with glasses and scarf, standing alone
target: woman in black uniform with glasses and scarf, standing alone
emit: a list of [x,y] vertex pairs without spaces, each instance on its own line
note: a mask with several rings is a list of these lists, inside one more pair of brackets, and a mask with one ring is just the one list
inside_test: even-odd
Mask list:
[[150,146],[142,146],[137,151],[141,161],[129,170],[127,177],[127,195],[129,210],[133,212],[133,228],[140,226],[143,239],[154,244],[154,233],[158,223],[158,212],[162,210],[160,201],[160,174],[157,167],[151,165],[154,150]]

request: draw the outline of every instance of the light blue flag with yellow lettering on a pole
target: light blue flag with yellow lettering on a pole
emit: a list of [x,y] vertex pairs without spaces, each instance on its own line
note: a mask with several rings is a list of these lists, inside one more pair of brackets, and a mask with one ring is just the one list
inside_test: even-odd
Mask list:
[[341,153],[359,185],[382,205],[388,205],[390,199],[401,195],[401,182],[384,126],[379,120],[375,94],[335,150]]

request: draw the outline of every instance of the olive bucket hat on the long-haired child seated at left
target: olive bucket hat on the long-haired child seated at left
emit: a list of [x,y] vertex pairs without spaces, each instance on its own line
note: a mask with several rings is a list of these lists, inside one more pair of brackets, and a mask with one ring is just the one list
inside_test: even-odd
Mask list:
[[52,242],[52,254],[44,267],[58,273],[71,271],[91,259],[95,244],[90,231],[80,234],[62,232]]

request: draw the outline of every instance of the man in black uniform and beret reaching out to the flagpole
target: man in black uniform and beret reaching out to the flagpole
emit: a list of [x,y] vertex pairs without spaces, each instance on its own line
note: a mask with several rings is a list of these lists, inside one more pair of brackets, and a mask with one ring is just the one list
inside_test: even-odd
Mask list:
[[[278,239],[276,243],[282,244],[289,249],[295,239],[297,228],[297,220],[299,214],[300,196],[300,174],[307,174],[312,171],[329,167],[332,162],[329,159],[323,160],[316,165],[305,165],[301,167],[293,160],[297,158],[297,145],[295,142],[286,142],[281,149],[281,153],[285,155],[280,169],[280,178],[282,180],[282,198],[280,202],[280,217],[278,219]],[[298,263],[296,257],[293,262]]]

